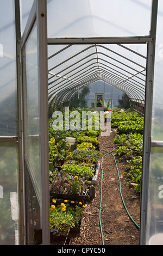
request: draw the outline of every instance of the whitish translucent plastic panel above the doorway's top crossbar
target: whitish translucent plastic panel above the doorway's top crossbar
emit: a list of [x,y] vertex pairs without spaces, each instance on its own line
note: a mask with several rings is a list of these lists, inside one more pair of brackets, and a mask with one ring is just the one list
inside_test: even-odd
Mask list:
[[48,38],[149,35],[151,0],[47,0]]

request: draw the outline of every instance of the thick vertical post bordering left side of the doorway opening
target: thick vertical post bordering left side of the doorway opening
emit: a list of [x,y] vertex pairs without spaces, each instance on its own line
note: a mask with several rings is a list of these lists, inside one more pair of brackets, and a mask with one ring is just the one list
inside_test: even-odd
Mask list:
[[48,163],[48,75],[47,75],[47,1],[37,0],[37,28],[39,29],[39,109],[42,182],[42,245],[50,242],[49,232],[49,163]]

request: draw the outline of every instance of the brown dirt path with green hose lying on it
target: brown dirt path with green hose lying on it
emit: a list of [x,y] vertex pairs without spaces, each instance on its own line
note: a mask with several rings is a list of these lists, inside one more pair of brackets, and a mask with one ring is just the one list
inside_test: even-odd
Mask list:
[[[110,136],[99,137],[102,156],[106,154],[102,148],[108,147],[106,149],[108,151],[111,151],[112,147],[116,149],[117,145],[113,144],[116,135],[117,132],[113,130]],[[115,154],[115,151],[112,154]],[[129,166],[126,160],[122,157],[120,159],[115,156],[115,158],[121,182],[118,179],[114,157],[111,154],[104,156],[103,172],[100,168],[95,197],[86,200],[82,228],[79,234],[71,237],[70,245],[139,245],[139,228],[137,225],[140,224],[140,194],[136,193],[133,187],[127,185]],[[124,204],[137,225],[131,221],[123,205],[120,183]],[[101,210],[99,210],[100,203]]]

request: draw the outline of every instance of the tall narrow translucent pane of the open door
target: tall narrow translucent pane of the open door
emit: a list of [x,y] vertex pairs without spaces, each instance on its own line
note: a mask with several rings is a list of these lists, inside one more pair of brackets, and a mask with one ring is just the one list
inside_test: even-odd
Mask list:
[[37,194],[40,197],[39,85],[36,23],[24,46],[24,60],[26,63],[26,88],[24,90],[24,154],[30,168],[29,172],[33,178]]

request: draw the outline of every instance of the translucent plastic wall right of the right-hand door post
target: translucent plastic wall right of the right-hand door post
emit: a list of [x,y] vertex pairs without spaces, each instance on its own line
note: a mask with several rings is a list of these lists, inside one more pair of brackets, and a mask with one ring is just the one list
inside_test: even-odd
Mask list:
[[163,245],[163,2],[159,1],[154,67],[152,148],[147,200],[146,244]]

